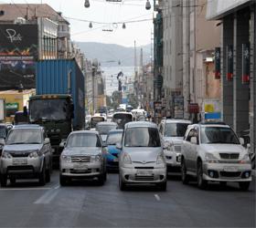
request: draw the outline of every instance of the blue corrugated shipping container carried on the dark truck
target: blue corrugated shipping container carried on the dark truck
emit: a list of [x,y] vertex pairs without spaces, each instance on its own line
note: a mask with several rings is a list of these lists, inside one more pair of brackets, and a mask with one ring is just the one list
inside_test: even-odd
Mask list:
[[70,94],[75,126],[84,125],[84,75],[74,59],[40,60],[36,64],[36,93]]

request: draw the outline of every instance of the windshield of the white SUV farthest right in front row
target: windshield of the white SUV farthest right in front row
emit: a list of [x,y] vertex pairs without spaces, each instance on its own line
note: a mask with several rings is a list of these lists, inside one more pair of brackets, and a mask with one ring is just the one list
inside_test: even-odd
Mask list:
[[238,137],[230,128],[202,127],[201,143],[240,144]]

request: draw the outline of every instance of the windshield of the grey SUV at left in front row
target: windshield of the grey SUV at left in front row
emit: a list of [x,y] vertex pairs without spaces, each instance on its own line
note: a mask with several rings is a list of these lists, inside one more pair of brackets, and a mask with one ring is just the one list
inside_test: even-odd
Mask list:
[[36,130],[36,129],[11,130],[6,140],[7,145],[40,144],[40,143],[42,143],[41,130]]

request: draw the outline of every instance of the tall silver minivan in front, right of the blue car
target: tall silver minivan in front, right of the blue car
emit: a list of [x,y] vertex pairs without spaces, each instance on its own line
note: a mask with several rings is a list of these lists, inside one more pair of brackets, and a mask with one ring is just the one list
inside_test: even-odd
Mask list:
[[152,183],[166,190],[166,163],[157,129],[152,122],[135,121],[125,124],[119,158],[119,187],[127,184]]

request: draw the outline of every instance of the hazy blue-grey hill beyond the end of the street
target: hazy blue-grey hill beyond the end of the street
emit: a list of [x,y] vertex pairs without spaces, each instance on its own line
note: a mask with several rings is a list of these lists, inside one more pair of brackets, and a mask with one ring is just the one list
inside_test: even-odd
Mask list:
[[[87,59],[97,58],[103,67],[118,66],[118,62],[124,67],[134,66],[134,48],[123,47],[112,44],[102,44],[94,42],[76,42],[81,52],[85,54]],[[137,47],[137,65],[140,62],[140,50],[144,51],[144,64],[150,62],[151,45]]]

